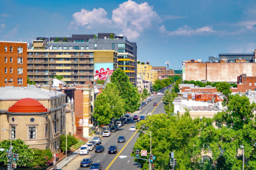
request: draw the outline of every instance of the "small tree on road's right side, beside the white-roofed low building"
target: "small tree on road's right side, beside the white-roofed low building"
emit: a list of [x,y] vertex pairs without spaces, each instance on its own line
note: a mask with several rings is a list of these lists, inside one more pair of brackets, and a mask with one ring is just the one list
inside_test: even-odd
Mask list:
[[163,103],[164,103],[164,109],[166,113],[173,113],[174,111],[174,105],[173,100],[177,97],[177,94],[174,92],[170,92],[169,90],[166,90],[163,97]]

